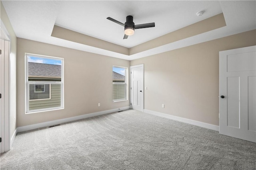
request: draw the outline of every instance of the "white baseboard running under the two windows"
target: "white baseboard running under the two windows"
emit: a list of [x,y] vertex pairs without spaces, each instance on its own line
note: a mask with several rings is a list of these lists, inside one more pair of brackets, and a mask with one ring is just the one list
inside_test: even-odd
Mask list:
[[126,109],[130,109],[130,106],[121,107],[121,108],[117,108],[117,109],[111,109],[111,110],[105,110],[105,111],[99,111],[99,112],[95,112],[95,113],[89,113],[89,114],[75,116],[75,117],[69,117],[69,118],[65,118],[65,119],[58,119],[58,120],[48,121],[48,122],[44,122],[44,123],[37,123],[37,124],[33,124],[33,125],[22,126],[22,127],[17,128],[17,132],[29,131],[32,129],[57,125],[60,123],[66,123],[66,122],[70,122],[70,121],[76,121],[76,120],[85,119],[88,117],[104,115],[104,114],[113,113],[116,111],[126,110]]

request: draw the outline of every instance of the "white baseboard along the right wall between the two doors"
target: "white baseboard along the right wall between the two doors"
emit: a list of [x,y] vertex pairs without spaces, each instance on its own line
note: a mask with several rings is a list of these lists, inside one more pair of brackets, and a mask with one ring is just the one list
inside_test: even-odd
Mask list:
[[168,115],[168,114],[160,113],[160,112],[156,112],[156,111],[146,110],[146,109],[144,109],[144,112],[152,114],[152,115],[156,115],[156,116],[165,117],[165,118],[168,118],[168,119],[173,119],[173,120],[176,120],[176,121],[181,121],[181,122],[188,123],[188,124],[191,124],[191,125],[196,125],[196,126],[200,126],[200,127],[205,127],[207,129],[212,129],[212,130],[215,130],[215,131],[219,131],[219,126],[216,126],[216,125],[203,123],[203,122],[195,121],[195,120],[191,120],[191,119],[186,119],[186,118],[183,118],[183,117]]

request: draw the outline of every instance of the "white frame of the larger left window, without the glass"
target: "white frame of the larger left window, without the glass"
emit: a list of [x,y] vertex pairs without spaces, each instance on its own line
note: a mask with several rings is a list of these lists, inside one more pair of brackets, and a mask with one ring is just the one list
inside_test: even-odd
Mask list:
[[[39,57],[43,59],[55,59],[61,61],[61,81],[34,81],[34,80],[28,80],[28,57]],[[52,111],[52,110],[58,110],[58,109],[64,109],[64,58],[60,57],[51,57],[51,56],[45,56],[45,55],[38,55],[38,54],[31,54],[31,53],[25,53],[25,114],[29,113],[38,113],[42,111]],[[29,98],[29,84],[50,84],[50,98],[48,99],[36,99],[36,100],[30,100]],[[51,85],[52,84],[60,84],[60,106],[58,107],[48,107],[44,109],[32,109],[29,110],[29,102],[30,101],[39,101],[39,100],[50,100],[51,99]],[[40,92],[36,92],[40,93]]]

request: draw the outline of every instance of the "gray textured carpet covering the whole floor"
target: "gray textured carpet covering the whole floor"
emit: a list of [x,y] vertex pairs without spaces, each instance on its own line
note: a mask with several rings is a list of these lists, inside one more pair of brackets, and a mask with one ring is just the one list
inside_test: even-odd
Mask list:
[[1,170],[256,168],[256,143],[135,110],[18,133]]

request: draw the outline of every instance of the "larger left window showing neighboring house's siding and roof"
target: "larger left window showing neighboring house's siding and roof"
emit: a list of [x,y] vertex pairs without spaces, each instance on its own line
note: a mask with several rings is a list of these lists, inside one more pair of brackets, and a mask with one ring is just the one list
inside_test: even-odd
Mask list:
[[26,54],[26,113],[62,109],[63,59]]

